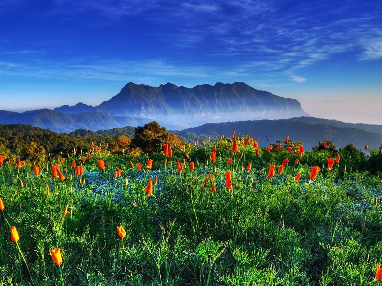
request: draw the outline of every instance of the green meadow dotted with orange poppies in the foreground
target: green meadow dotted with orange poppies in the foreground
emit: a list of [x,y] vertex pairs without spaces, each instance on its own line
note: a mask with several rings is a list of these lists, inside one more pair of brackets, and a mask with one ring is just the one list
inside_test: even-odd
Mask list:
[[287,139],[0,158],[0,285],[379,283],[380,152]]

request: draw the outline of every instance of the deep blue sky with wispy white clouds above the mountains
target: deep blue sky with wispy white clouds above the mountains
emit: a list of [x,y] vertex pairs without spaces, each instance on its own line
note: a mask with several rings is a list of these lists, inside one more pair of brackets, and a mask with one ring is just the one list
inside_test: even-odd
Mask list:
[[245,82],[315,117],[382,124],[380,3],[1,0],[0,109]]

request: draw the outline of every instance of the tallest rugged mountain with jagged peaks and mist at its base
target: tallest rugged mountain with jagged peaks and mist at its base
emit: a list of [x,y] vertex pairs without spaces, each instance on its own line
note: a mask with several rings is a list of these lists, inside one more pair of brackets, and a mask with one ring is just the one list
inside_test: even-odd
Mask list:
[[193,88],[167,83],[159,87],[129,82],[95,111],[113,116],[143,117],[179,128],[237,119],[309,116],[301,104],[243,83],[203,84]]

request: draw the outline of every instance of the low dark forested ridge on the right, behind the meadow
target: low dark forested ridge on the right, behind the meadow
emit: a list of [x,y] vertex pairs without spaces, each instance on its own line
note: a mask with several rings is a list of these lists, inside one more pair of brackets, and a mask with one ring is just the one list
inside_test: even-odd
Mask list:
[[[299,118],[213,123],[171,132],[178,133],[184,140],[193,143],[196,140],[199,142],[208,140],[209,136],[211,140],[215,140],[215,137],[219,138],[221,135],[231,137],[232,131],[235,130],[236,135],[254,136],[261,147],[275,143],[276,140],[283,141],[286,136],[290,136],[293,141],[303,142],[304,147],[308,149],[318,145],[319,141],[327,139],[332,140],[337,147],[353,143],[359,149],[363,149],[366,145],[369,145],[369,148],[379,148],[382,143],[382,129],[381,132],[376,133],[351,127],[356,124],[341,121],[330,121],[330,124],[327,124],[324,123],[325,119]],[[308,119],[317,121],[317,123],[307,122]],[[376,126],[382,127],[381,125]],[[378,129],[373,126],[368,128]]]

